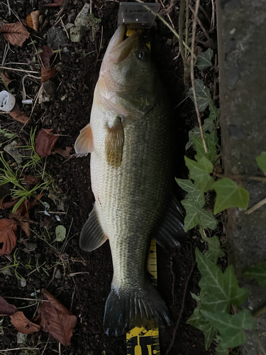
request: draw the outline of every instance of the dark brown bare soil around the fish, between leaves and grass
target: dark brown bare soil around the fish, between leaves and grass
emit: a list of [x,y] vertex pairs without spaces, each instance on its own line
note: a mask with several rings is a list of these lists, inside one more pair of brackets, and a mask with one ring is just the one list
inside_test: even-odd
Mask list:
[[[38,33],[28,28],[31,38],[26,40],[23,46],[13,47],[10,45],[6,58],[5,67],[23,68],[23,70],[35,70],[33,57],[36,57],[35,50],[43,45],[50,45],[55,50],[58,40],[51,40],[49,31],[55,26],[56,31],[65,36],[65,44],[61,46],[62,51],[57,53],[54,65],[60,67],[60,71],[51,80],[54,86],[52,100],[43,104],[35,104],[31,115],[32,106],[21,104],[22,87],[21,72],[9,71],[13,81],[9,84],[9,89],[16,94],[17,103],[23,111],[31,115],[33,128],[54,129],[62,135],[56,143],[56,147],[65,148],[74,146],[80,129],[89,122],[90,110],[92,107],[93,92],[99,75],[101,60],[104,56],[106,46],[109,43],[113,32],[117,26],[118,2],[116,1],[92,1],[92,12],[96,18],[101,18],[100,30],[103,28],[101,43],[101,31],[96,32],[92,40],[91,28],[88,28],[84,38],[80,43],[71,43],[66,37],[62,22],[73,22],[77,13],[85,3],[89,1],[69,1],[60,14],[62,21],[57,21],[60,8],[43,7],[42,4],[53,1],[10,1],[11,16],[8,7],[4,2],[0,4],[0,16],[8,23],[17,21],[17,17],[25,19],[29,13],[39,9],[43,16]],[[204,4],[205,11],[211,17],[210,4]],[[207,3],[207,1],[206,1]],[[65,4],[65,3],[64,3]],[[169,6],[169,1],[165,1],[165,7]],[[35,6],[35,7],[33,7]],[[172,7],[170,18],[175,28],[178,28],[179,2]],[[17,16],[17,17],[16,17]],[[166,14],[165,18],[168,20]],[[209,22],[203,13],[199,13],[202,23],[209,28]],[[191,23],[191,20],[190,20]],[[102,26],[102,27],[101,27]],[[191,27],[191,25],[189,25]],[[191,30],[190,30],[191,31]],[[216,43],[215,33],[210,34]],[[176,121],[175,136],[179,144],[179,151],[175,158],[175,176],[177,178],[187,178],[187,169],[184,166],[184,146],[188,140],[188,131],[196,124],[194,107],[189,99],[185,99],[186,88],[183,80],[183,65],[179,55],[178,43],[173,41],[170,30],[160,21],[155,23],[149,32],[151,40],[152,55],[162,81],[167,87],[167,91],[172,102],[174,120]],[[200,28],[197,30],[197,45],[204,48],[204,36]],[[204,38],[204,40],[202,39]],[[35,45],[31,44],[35,41]],[[101,43],[101,50],[100,48]],[[206,43],[205,43],[206,45]],[[6,40],[0,35],[0,60],[4,57]],[[30,63],[29,65],[14,63]],[[30,67],[31,65],[31,67]],[[27,68],[27,69],[25,69]],[[34,74],[36,75],[36,74]],[[198,75],[203,75],[198,72]],[[38,74],[36,75],[39,76]],[[206,84],[214,82],[213,72],[204,72]],[[40,80],[27,77],[24,81],[27,98],[34,99],[40,88]],[[0,82],[0,90],[5,89]],[[185,99],[185,100],[184,100]],[[13,121],[9,115],[0,114],[1,129],[18,134],[18,141],[25,145],[29,141],[31,125]],[[6,139],[5,139],[6,140]],[[3,140],[2,140],[3,141]],[[4,152],[4,158],[9,164],[14,164],[13,158]],[[44,191],[43,202],[50,204],[48,212],[65,212],[58,214],[60,221],[56,219],[56,213],[47,216],[43,213],[44,207],[39,204],[31,210],[31,219],[35,224],[31,224],[31,237],[27,237],[21,230],[18,232],[18,242],[16,245],[16,260],[19,263],[16,271],[26,279],[26,286],[21,284],[13,268],[9,275],[0,273],[0,293],[17,307],[26,307],[33,302],[23,300],[23,298],[34,298],[33,293],[46,288],[57,297],[74,315],[77,316],[77,325],[74,328],[70,345],[58,348],[58,342],[49,336],[48,333],[38,332],[28,335],[26,343],[17,344],[17,332],[10,322],[9,317],[4,317],[4,322],[0,323],[1,350],[16,349],[19,346],[32,348],[32,350],[13,350],[3,354],[95,354],[114,355],[126,354],[126,337],[107,337],[103,332],[104,305],[109,295],[112,262],[109,243],[106,242],[101,248],[92,253],[86,253],[79,249],[79,232],[86,222],[89,212],[92,210],[94,196],[90,187],[89,156],[86,158],[76,158],[74,150],[67,158],[63,158],[57,153],[52,153],[48,158],[43,158],[45,171],[55,178],[55,190],[58,199],[63,202],[64,207],[59,206],[55,197],[55,192]],[[31,170],[26,171],[30,174]],[[184,197],[184,192],[174,187],[179,199]],[[58,194],[58,192],[60,192]],[[1,190],[1,197],[6,192]],[[50,197],[48,197],[48,195]],[[9,210],[1,212],[1,218],[8,217]],[[55,242],[55,227],[64,225],[67,229],[66,242]],[[157,269],[158,269],[158,289],[167,302],[172,315],[173,324],[166,329],[160,329],[160,349],[161,354],[166,354],[172,342],[174,327],[181,315],[177,334],[174,337],[174,344],[170,349],[170,355],[200,355],[214,354],[214,347],[206,351],[204,348],[204,335],[196,328],[186,324],[187,319],[192,315],[195,301],[190,293],[199,293],[199,271],[194,267],[194,249],[196,246],[203,250],[204,242],[194,230],[189,231],[187,242],[180,248],[173,251],[164,251],[157,247]],[[13,253],[10,256],[0,257],[0,269],[7,263],[13,261]],[[39,267],[43,266],[43,268]],[[194,267],[193,271],[192,268]],[[189,274],[192,275],[189,278]],[[184,307],[182,300],[184,290],[187,293],[184,297]],[[13,298],[12,298],[13,297]],[[21,298],[16,298],[21,297]],[[23,308],[25,314],[32,318],[35,314],[36,306]],[[38,350],[33,350],[37,347]],[[45,348],[46,346],[46,348]]]

